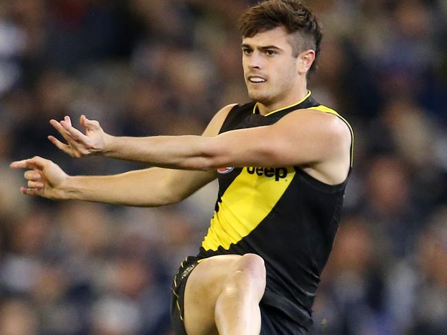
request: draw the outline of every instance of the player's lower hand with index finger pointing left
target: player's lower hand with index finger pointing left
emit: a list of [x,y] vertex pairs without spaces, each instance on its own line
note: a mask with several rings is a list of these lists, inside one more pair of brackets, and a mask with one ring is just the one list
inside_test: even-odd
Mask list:
[[20,188],[24,194],[54,200],[64,198],[62,187],[67,181],[68,175],[56,163],[36,156],[32,159],[14,161],[10,167],[12,169],[30,169],[23,174],[28,181],[28,187]]

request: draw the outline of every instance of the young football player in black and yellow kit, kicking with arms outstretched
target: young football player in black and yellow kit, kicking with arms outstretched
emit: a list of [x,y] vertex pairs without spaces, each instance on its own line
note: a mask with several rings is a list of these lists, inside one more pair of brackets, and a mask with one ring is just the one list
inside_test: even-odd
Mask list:
[[306,334],[351,170],[352,131],[307,90],[321,32],[300,1],[265,1],[241,18],[243,71],[253,102],[228,105],[202,136],[113,137],[85,116],[50,121],[59,149],[157,167],[114,176],[67,176],[41,157],[25,194],[155,207],[215,178],[215,214],[196,257],[173,284],[176,334]]

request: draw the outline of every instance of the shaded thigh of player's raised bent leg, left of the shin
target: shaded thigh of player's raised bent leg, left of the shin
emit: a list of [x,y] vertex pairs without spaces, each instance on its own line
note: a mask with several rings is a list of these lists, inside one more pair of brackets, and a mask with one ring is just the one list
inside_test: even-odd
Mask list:
[[184,325],[188,335],[218,334],[217,297],[240,255],[219,255],[201,260],[190,273],[184,292]]

